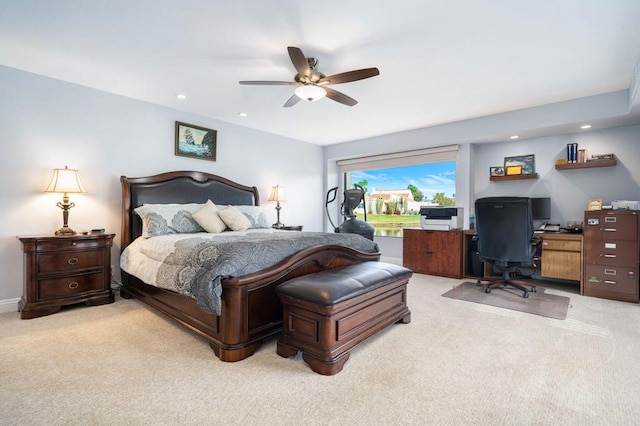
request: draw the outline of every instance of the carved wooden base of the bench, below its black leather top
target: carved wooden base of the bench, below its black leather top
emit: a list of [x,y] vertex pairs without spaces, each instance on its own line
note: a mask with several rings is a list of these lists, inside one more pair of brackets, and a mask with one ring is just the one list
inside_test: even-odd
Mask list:
[[[323,279],[321,274],[313,275]],[[409,272],[383,286],[370,283],[371,291],[331,305],[302,300],[299,295],[289,295],[286,289],[279,288],[284,321],[278,355],[288,358],[301,351],[303,360],[316,373],[327,376],[339,373],[351,348],[391,324],[411,322],[407,307],[410,277]]]

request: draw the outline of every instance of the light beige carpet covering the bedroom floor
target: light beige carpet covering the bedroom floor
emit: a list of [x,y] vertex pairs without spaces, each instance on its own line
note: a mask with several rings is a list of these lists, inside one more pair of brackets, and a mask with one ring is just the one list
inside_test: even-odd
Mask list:
[[0,424],[637,424],[638,305],[545,285],[571,298],[559,321],[441,297],[460,282],[415,275],[412,322],[335,376],[275,340],[223,363],[135,300],[0,314]]

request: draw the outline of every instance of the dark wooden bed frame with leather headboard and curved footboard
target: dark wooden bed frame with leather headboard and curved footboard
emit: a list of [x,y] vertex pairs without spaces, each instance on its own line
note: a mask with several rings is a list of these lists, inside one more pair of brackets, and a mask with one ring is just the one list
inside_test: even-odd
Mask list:
[[[121,251],[143,234],[142,220],[135,209],[145,204],[204,204],[218,206],[259,206],[256,187],[245,186],[220,176],[175,171],[148,177],[120,178],[122,184]],[[279,231],[297,233],[297,231]],[[327,234],[330,235],[330,234]],[[342,234],[346,235],[346,234]],[[155,283],[121,270],[123,298],[135,297],[178,323],[205,337],[216,356],[235,362],[253,355],[262,342],[282,330],[282,306],[275,288],[297,276],[346,265],[378,261],[380,253],[338,244],[314,245],[301,249],[259,271],[225,276],[220,314],[202,309],[187,295],[157,287]]]

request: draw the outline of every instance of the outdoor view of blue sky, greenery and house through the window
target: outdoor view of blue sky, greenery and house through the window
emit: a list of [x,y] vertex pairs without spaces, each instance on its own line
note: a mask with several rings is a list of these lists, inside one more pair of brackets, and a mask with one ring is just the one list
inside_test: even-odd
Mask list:
[[357,218],[375,227],[376,236],[402,237],[403,228],[420,226],[420,206],[454,206],[456,162],[419,164],[346,174],[366,192],[365,203],[355,210]]

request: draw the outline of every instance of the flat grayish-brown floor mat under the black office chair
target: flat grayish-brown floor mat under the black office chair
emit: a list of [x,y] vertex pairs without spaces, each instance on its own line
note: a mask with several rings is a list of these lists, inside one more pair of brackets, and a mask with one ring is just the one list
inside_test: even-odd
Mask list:
[[[527,286],[526,288],[528,289],[529,287]],[[571,300],[566,296],[547,293],[545,288],[540,286],[537,286],[535,292],[529,292],[527,298],[522,297],[521,290],[513,287],[496,288],[491,293],[485,293],[484,289],[484,285],[477,285],[475,282],[464,282],[442,295],[453,299],[466,300],[467,302],[482,303],[555,319],[565,319],[567,317],[569,301]]]

